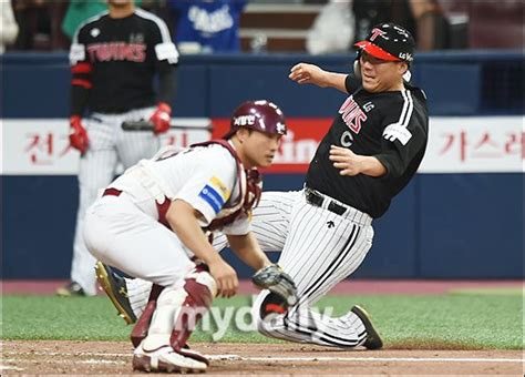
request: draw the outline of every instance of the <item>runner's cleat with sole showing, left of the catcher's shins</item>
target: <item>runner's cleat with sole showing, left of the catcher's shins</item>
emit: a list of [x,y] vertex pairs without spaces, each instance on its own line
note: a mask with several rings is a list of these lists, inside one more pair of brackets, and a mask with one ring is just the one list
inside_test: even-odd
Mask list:
[[136,322],[136,316],[133,313],[130,299],[127,298],[127,287],[124,277],[115,274],[110,266],[100,261],[95,264],[95,274],[96,281],[102,289],[104,289],[107,297],[110,297],[119,312],[119,316],[124,318],[126,324],[134,324]]

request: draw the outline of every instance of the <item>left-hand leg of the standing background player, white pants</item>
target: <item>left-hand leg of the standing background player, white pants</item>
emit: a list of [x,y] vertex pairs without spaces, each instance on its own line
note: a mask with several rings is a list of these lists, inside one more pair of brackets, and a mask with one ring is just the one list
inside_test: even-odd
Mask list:
[[80,159],[79,166],[79,210],[73,242],[71,281],[76,282],[86,295],[96,294],[95,259],[85,247],[82,227],[85,211],[95,201],[99,190],[109,185],[114,177],[116,153],[112,145],[111,124],[87,121],[90,147]]

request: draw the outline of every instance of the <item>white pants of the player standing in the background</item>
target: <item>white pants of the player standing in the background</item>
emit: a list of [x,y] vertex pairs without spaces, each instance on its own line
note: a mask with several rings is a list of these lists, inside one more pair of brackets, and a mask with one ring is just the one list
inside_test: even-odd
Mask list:
[[127,169],[142,159],[151,157],[158,150],[158,137],[152,132],[128,132],[121,128],[123,121],[147,120],[154,111],[155,108],[146,108],[123,114],[93,113],[83,120],[90,146],[80,159],[79,166],[79,210],[71,279],[79,283],[87,295],[96,294],[96,261],[89,253],[83,240],[85,211],[96,200],[99,190],[113,181],[119,163]]

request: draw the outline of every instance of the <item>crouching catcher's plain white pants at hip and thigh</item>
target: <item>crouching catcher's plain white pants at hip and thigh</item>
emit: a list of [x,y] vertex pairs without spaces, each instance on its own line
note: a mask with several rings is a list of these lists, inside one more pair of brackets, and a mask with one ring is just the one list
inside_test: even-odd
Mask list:
[[85,214],[85,245],[94,257],[131,276],[166,287],[182,284],[195,267],[187,248],[134,201],[126,193],[96,200]]

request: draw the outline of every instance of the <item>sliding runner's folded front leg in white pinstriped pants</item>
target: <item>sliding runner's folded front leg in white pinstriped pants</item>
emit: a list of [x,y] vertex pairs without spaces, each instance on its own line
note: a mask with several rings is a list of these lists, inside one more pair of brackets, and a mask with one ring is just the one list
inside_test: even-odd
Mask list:
[[[350,312],[331,318],[320,316],[310,307],[358,268],[371,247],[372,237],[370,225],[356,224],[305,201],[296,205],[279,264],[297,284],[299,305],[270,323],[259,320],[260,332],[280,339],[325,346],[362,344],[367,334],[356,314]],[[254,304],[256,318],[267,294],[261,293]]]

